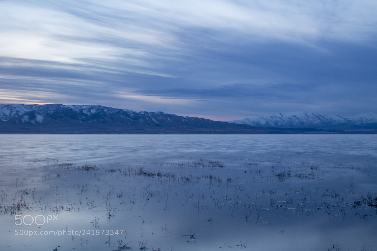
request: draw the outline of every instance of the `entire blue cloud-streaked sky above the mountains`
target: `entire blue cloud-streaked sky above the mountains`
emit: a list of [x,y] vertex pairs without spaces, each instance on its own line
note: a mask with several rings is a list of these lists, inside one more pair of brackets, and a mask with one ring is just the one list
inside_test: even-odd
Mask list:
[[0,103],[377,113],[375,0],[0,0]]

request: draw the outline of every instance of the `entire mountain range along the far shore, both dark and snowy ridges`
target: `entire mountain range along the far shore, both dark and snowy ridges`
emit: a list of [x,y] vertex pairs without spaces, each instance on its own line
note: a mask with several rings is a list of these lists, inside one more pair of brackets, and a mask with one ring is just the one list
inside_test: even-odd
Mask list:
[[[359,127],[352,127],[354,125]],[[101,105],[0,104],[0,134],[375,133],[376,130],[336,131],[339,126],[345,129],[375,129],[375,125],[376,115],[373,113],[360,114],[352,119],[309,113],[280,114],[229,123]]]

